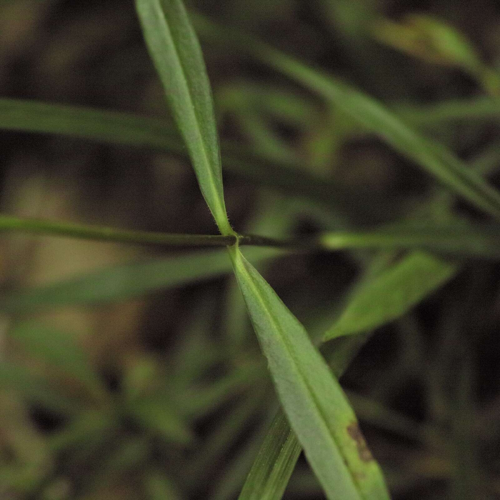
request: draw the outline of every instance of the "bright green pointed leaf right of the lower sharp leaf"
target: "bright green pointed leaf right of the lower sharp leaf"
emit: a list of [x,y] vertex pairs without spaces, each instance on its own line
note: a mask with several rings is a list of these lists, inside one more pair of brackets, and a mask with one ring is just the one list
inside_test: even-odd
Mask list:
[[411,252],[355,287],[323,340],[377,328],[407,312],[442,286],[457,266],[429,253]]

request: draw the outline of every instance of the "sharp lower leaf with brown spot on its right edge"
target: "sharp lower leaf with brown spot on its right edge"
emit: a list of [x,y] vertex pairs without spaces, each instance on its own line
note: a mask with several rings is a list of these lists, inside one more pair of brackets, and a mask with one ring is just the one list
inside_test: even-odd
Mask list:
[[281,404],[327,497],[388,498],[355,415],[307,332],[239,249],[229,252]]

